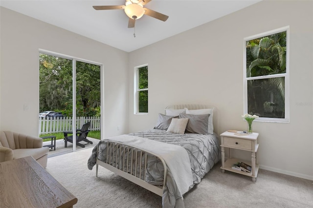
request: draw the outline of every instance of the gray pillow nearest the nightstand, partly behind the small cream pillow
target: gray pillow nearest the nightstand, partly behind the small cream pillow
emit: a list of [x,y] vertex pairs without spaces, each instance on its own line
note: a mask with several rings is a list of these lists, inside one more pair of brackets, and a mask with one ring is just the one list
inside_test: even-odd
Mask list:
[[179,118],[188,118],[186,133],[207,134],[210,114],[194,115],[180,113]]

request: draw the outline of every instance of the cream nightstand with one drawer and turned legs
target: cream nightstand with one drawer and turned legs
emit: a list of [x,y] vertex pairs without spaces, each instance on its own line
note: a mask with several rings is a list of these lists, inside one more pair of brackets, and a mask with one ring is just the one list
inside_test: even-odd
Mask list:
[[[255,182],[256,177],[258,175],[259,171],[259,165],[256,164],[256,152],[258,150],[259,144],[258,144],[258,136],[259,133],[251,133],[244,136],[237,136],[234,134],[234,132],[228,132],[225,131],[221,135],[221,151],[222,151],[222,172],[224,173],[225,170],[239,173],[242,175],[250,176],[252,177],[252,181]],[[228,155],[229,159],[225,161],[225,147],[228,149]],[[240,149],[244,151],[250,151],[251,152],[251,161],[243,161],[236,158],[231,158],[230,150],[231,149]],[[244,162],[251,166],[251,172],[245,172],[241,170],[235,170],[231,167],[238,163],[238,162]]]

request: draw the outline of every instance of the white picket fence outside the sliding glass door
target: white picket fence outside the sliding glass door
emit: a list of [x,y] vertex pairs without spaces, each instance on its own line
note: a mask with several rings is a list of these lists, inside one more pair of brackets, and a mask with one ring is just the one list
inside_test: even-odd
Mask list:
[[[89,130],[100,130],[100,117],[77,117],[76,128],[81,128],[84,124],[90,122]],[[39,135],[48,133],[57,133],[72,130],[72,118],[39,118]]]

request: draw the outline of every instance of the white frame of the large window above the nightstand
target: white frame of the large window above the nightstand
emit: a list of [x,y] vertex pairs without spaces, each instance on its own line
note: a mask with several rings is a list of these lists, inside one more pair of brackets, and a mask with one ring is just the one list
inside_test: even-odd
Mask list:
[[[266,37],[275,33],[285,32],[286,31],[286,73],[283,74],[274,74],[274,75],[266,75],[259,77],[246,77],[246,42],[251,41],[257,38]],[[248,113],[248,99],[247,99],[247,83],[248,80],[258,80],[258,79],[269,79],[274,77],[285,77],[285,118],[267,118],[267,117],[259,117],[255,119],[255,121],[262,122],[278,122],[278,123],[289,123],[290,122],[290,98],[289,98],[289,26],[281,27],[278,29],[274,29],[265,33],[257,34],[254,36],[244,38],[244,114]]]

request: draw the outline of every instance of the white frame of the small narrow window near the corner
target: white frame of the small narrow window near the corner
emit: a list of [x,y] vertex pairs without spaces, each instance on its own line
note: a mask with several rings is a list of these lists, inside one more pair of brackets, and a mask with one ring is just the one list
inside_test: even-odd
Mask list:
[[[148,91],[148,97],[149,97],[149,75],[148,75],[148,88],[139,89],[139,86],[138,86],[139,84],[139,74],[138,74],[139,70],[138,69],[144,66],[148,66],[148,63],[134,67],[134,114],[135,115],[148,115],[148,113],[139,112],[139,91]],[[147,70],[149,70],[149,67]],[[148,71],[148,74],[149,74],[149,71]],[[148,107],[148,111],[149,111],[149,107]]]

